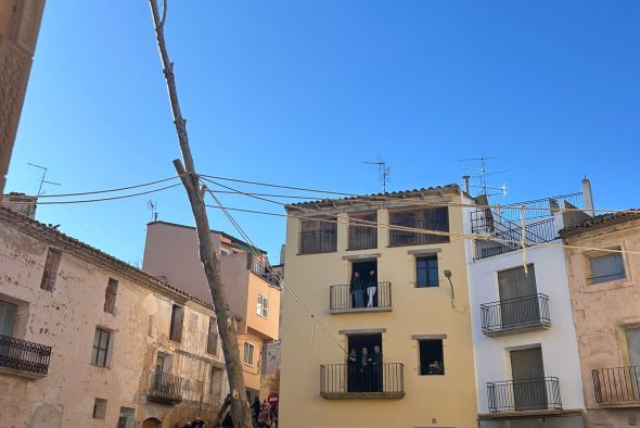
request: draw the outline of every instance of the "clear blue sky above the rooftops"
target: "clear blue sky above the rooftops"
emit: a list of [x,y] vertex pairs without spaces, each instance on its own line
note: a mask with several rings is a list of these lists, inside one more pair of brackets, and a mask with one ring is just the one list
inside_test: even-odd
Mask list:
[[[513,202],[580,190],[640,206],[637,1],[169,1],[167,38],[201,173],[369,193],[461,182],[495,156]],[[144,0],[49,1],[7,190],[39,172],[93,190],[175,174],[179,148]],[[254,189],[244,187],[245,190]],[[146,201],[192,224],[181,188],[38,218],[140,262]],[[241,197],[229,206],[282,212]],[[236,214],[278,261],[284,222]],[[219,213],[212,226],[234,234]],[[234,234],[235,235],[235,234]]]

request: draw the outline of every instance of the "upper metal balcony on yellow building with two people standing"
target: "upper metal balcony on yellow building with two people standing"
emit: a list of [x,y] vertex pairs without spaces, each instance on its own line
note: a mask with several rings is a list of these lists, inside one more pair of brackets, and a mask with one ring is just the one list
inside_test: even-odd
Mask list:
[[389,281],[377,282],[373,297],[373,306],[367,307],[367,290],[362,290],[362,300],[351,293],[348,284],[331,286],[329,292],[329,309],[332,314],[350,312],[389,312],[392,311],[392,284]]

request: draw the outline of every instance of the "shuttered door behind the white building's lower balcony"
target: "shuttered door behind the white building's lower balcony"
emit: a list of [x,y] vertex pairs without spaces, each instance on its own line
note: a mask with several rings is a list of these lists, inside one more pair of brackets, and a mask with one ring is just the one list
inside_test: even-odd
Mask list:
[[547,385],[542,350],[511,351],[513,402],[516,411],[547,408]]

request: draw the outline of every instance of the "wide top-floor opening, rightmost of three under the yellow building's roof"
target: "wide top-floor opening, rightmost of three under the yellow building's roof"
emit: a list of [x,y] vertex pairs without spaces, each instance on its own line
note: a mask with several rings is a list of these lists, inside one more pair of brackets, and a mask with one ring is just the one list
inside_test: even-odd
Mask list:
[[[389,213],[392,226],[449,231],[449,211],[447,207],[398,211]],[[428,243],[449,242],[447,235],[421,234],[412,230],[389,230],[389,244],[421,246]]]

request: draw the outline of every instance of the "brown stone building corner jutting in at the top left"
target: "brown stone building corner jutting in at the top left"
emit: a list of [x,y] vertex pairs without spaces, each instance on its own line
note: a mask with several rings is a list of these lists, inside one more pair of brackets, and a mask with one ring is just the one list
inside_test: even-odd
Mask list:
[[27,90],[44,0],[0,1],[0,193]]

